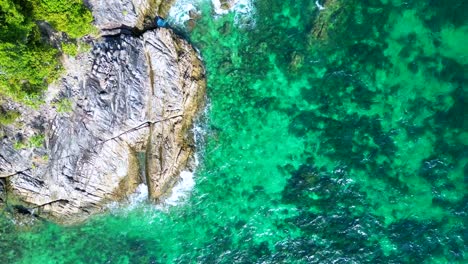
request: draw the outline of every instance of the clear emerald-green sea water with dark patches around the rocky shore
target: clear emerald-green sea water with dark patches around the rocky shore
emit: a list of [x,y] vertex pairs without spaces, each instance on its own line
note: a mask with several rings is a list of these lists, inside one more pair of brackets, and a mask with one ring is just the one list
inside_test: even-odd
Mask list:
[[466,3],[192,3],[210,107],[190,195],[0,218],[1,263],[466,263]]

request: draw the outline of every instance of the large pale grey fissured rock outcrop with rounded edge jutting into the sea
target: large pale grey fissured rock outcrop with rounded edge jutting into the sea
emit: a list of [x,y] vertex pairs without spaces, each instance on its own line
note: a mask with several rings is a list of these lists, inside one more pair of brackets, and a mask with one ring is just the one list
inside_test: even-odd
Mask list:
[[192,157],[190,128],[203,104],[200,58],[172,30],[93,45],[64,61],[67,75],[50,87],[49,104],[6,104],[22,117],[0,132],[2,200],[62,223],[125,199],[141,183],[152,200],[164,196]]

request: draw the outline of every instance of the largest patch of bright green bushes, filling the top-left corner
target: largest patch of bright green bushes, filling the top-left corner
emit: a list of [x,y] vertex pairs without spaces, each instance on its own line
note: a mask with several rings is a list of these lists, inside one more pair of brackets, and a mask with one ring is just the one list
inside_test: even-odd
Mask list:
[[[0,0],[0,95],[30,105],[61,73],[59,51],[44,41],[40,20],[71,38],[92,31],[81,0]],[[64,52],[76,54],[76,46],[67,45]]]

